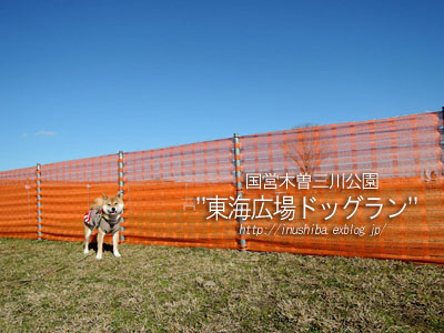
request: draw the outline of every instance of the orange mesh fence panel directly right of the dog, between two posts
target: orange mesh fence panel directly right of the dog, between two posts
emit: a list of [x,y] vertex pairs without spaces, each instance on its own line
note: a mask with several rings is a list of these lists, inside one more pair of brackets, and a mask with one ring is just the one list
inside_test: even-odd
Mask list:
[[236,249],[236,222],[214,221],[204,198],[234,196],[232,140],[124,154],[130,243]]

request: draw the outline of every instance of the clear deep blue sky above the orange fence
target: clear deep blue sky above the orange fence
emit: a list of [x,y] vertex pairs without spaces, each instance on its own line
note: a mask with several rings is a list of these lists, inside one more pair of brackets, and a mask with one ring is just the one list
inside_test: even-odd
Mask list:
[[441,110],[444,1],[0,1],[0,170]]

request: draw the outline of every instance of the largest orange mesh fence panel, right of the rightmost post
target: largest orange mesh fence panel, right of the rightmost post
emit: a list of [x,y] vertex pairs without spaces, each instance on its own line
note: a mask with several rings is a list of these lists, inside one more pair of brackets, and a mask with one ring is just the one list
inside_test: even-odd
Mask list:
[[444,263],[442,124],[430,112],[241,138],[246,249]]

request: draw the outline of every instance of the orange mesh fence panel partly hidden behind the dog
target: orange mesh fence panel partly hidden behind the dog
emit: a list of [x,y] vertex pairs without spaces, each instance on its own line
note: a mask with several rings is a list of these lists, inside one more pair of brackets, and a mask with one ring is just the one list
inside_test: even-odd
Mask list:
[[118,154],[42,165],[42,238],[82,241],[82,218],[92,201],[118,190]]

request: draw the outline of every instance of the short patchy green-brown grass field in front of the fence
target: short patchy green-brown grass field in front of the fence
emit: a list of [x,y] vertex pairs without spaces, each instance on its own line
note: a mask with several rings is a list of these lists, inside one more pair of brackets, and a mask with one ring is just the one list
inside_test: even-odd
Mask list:
[[444,271],[369,259],[0,239],[0,332],[444,332]]

